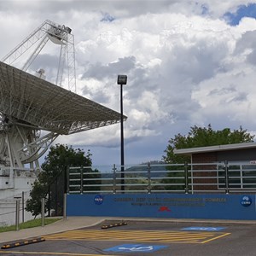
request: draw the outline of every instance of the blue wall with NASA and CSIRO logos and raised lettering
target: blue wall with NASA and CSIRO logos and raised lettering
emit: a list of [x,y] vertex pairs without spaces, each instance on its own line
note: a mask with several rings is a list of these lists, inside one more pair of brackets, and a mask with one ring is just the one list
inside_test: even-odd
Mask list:
[[256,195],[67,195],[67,216],[256,219]]

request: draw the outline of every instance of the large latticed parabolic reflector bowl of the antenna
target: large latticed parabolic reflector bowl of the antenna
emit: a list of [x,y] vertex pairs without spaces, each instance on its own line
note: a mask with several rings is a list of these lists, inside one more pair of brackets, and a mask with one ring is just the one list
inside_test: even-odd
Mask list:
[[121,119],[110,108],[1,61],[0,97],[0,112],[7,117],[63,135],[113,125]]

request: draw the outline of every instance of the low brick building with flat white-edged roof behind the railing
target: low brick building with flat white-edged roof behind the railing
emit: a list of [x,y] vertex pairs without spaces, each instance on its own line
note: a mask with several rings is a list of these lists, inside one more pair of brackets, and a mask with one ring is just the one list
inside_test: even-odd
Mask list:
[[256,189],[256,143],[175,149],[191,159],[193,191]]

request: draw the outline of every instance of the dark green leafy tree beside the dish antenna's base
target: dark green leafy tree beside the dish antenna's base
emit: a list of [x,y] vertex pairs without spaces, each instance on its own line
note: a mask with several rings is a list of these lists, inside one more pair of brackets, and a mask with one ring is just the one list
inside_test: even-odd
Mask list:
[[44,197],[49,211],[55,208],[56,215],[62,214],[63,194],[67,190],[67,167],[91,166],[90,156],[90,150],[84,155],[80,148],[61,144],[50,147],[41,166],[42,172],[33,184],[31,199],[26,202],[26,210],[36,217],[41,212],[41,199]]

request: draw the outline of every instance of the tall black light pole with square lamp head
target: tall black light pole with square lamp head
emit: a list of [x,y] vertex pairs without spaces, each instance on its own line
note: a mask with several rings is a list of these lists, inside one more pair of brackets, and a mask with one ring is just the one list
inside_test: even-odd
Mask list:
[[125,153],[124,153],[124,118],[123,118],[123,85],[127,84],[126,75],[118,75],[117,84],[120,85],[120,111],[121,111],[121,190],[125,191]]

